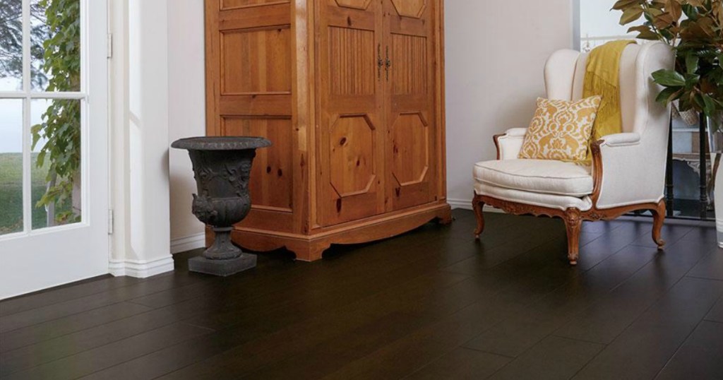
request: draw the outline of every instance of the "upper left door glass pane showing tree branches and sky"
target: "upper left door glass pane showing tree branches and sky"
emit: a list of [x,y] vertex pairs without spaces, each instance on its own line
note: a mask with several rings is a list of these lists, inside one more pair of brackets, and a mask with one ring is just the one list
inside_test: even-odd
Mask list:
[[0,91],[22,90],[22,0],[0,1]]

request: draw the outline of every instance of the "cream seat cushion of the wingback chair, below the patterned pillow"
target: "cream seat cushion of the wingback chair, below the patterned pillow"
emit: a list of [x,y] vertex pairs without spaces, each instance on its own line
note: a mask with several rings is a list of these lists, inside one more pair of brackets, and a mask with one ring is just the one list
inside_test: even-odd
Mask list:
[[474,179],[491,186],[573,197],[590,195],[593,189],[590,166],[565,161],[483,161],[474,165]]

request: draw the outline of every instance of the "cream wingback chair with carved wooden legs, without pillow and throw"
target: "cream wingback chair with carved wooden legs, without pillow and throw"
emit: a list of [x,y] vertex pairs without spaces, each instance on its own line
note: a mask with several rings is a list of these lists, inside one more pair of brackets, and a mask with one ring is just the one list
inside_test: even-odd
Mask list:
[[[587,59],[587,54],[572,50],[552,54],[544,69],[547,98],[580,99]],[[651,74],[672,65],[672,52],[664,43],[625,48],[620,59],[623,133],[604,136],[592,144],[591,167],[518,159],[526,128],[495,136],[497,160],[474,166],[476,237],[484,230],[485,204],[510,214],[559,217],[567,227],[568,259],[576,265],[583,221],[651,210],[653,240],[662,248],[670,111],[656,103],[660,88],[651,80]]]

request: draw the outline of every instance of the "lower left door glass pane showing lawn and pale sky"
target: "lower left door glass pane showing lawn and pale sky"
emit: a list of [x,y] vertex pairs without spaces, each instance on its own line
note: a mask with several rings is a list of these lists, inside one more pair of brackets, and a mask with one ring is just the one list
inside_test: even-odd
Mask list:
[[0,235],[22,231],[22,100],[0,99]]

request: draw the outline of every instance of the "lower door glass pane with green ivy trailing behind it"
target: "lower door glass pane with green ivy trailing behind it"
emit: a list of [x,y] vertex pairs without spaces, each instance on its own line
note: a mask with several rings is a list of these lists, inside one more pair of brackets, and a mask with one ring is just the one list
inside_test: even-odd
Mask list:
[[35,99],[32,123],[33,229],[80,221],[80,100]]

